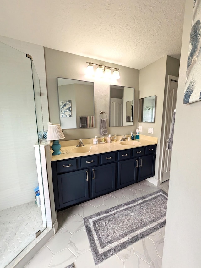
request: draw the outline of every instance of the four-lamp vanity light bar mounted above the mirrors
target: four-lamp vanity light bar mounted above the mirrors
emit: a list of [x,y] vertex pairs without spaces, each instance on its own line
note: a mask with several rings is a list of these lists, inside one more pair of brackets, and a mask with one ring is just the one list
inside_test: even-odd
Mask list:
[[[109,67],[106,65],[102,65],[102,64],[97,64],[97,63],[91,63],[91,62],[86,62],[89,65],[87,66],[87,74],[92,76],[94,74],[94,67],[93,65],[98,65],[98,67],[96,68],[95,71],[95,76],[96,77],[103,77],[103,75],[107,78],[107,79],[119,79],[119,69],[118,68],[114,68],[114,67]],[[111,69],[114,69],[113,73],[111,74]]]

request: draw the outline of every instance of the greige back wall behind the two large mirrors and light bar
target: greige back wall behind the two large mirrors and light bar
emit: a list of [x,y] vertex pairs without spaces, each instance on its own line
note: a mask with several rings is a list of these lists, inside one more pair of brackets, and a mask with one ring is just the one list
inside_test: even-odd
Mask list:
[[[57,77],[78,79],[83,81],[94,82],[94,101],[95,101],[95,128],[93,129],[67,129],[63,133],[65,139],[85,139],[93,138],[100,135],[100,111],[107,114],[108,134],[114,136],[130,134],[131,130],[135,130],[138,124],[138,93],[139,93],[139,70],[128,68],[125,66],[114,65],[113,63],[100,62],[99,60],[90,59],[50,48],[44,48],[46,63],[46,81],[47,94],[49,104],[49,114],[51,123],[59,123],[58,117],[58,95],[57,95]],[[120,69],[120,79],[117,81],[109,81],[103,79],[87,78],[85,76],[86,61],[95,62],[104,65],[117,67]],[[109,127],[109,85],[120,85],[135,88],[134,101],[134,125],[124,127]]]

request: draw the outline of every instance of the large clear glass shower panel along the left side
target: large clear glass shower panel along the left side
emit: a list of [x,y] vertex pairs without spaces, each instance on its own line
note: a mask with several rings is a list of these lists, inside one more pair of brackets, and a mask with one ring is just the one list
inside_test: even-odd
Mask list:
[[23,52],[0,42],[0,58],[0,267],[5,267],[46,228],[46,219],[34,192],[36,107],[41,108],[40,101],[35,104],[33,82],[37,89],[39,79]]

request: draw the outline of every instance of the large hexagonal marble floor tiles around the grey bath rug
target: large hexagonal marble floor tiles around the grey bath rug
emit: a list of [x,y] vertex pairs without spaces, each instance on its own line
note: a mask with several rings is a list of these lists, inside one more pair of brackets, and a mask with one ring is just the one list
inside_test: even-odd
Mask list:
[[57,233],[25,267],[64,268],[74,262],[75,268],[161,268],[165,227],[95,265],[83,218],[168,187],[169,181],[156,187],[144,180],[58,212]]

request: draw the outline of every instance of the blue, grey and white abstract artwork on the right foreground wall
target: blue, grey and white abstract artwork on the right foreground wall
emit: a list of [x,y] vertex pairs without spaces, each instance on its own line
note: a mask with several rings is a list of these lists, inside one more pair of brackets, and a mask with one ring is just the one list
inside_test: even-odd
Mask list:
[[201,0],[194,0],[183,104],[201,100]]

